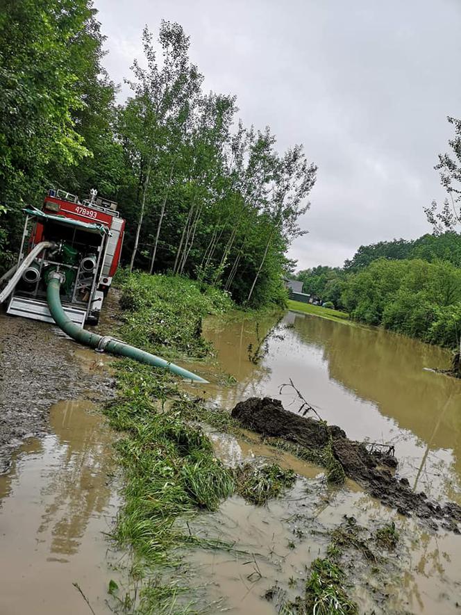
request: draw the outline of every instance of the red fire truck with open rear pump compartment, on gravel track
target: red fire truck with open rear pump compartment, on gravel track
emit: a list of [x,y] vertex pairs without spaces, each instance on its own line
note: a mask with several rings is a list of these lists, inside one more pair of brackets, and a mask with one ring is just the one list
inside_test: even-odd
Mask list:
[[[74,195],[49,190],[42,209],[26,208],[18,263],[39,244],[42,252],[22,271],[7,313],[54,322],[46,300],[45,276],[64,270],[62,306],[83,327],[97,324],[103,299],[119,264],[125,220],[117,204],[97,196],[80,202]],[[40,248],[36,248],[39,249]]]

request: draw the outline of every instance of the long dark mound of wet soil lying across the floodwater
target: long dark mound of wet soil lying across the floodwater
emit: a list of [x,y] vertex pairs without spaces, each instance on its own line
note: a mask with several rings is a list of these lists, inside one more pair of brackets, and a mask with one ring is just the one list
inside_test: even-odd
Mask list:
[[396,478],[389,469],[398,464],[393,455],[369,452],[363,443],[349,440],[340,427],[298,416],[285,410],[279,400],[269,397],[250,397],[238,403],[232,416],[262,436],[284,438],[309,450],[321,450],[330,445],[345,475],[384,505],[403,515],[415,514],[434,529],[438,522],[446,530],[460,533],[459,505],[449,502],[441,506],[428,500],[426,493],[414,493],[407,479]]

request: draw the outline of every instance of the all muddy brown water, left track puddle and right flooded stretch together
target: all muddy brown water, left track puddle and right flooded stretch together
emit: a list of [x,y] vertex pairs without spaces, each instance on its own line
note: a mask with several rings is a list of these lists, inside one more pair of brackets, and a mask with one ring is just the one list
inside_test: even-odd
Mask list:
[[[274,318],[260,322],[264,334]],[[217,359],[188,367],[210,379],[191,387],[231,409],[250,395],[279,397],[287,409],[298,402],[282,384],[293,379],[323,418],[349,437],[396,445],[399,473],[434,498],[460,502],[461,383],[428,368],[444,368],[449,354],[401,336],[287,313],[268,352],[255,365],[253,320],[210,318],[204,335]],[[72,342],[69,341],[69,344]],[[78,349],[83,369],[107,370],[94,353]],[[229,384],[226,375],[237,382]],[[0,476],[1,615],[110,612],[108,582],[117,578],[119,557],[109,548],[119,506],[111,433],[91,402],[61,402],[51,410],[50,434],[31,438]],[[234,545],[226,551],[185,554],[180,574],[200,589],[210,612],[269,615],[276,609],[262,596],[277,583],[288,598],[302,593],[308,566],[324,555],[327,530],[344,514],[364,525],[395,520],[401,546],[389,558],[385,582],[368,569],[356,571],[353,597],[360,612],[456,612],[461,595],[461,537],[430,534],[401,518],[348,482],[326,486],[321,468],[260,443],[255,434],[237,440],[210,432],[219,457],[228,464],[265,457],[299,474],[294,489],[267,507],[233,497],[215,514],[200,515],[190,527],[206,539]],[[109,556],[109,557],[108,557]],[[379,600],[373,596],[380,596]]]

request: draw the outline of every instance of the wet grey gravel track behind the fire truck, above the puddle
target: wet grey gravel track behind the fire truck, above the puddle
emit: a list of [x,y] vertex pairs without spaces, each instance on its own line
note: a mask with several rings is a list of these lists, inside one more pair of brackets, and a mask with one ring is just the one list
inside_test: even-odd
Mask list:
[[0,474],[25,438],[49,431],[52,404],[112,396],[101,363],[57,327],[0,313]]

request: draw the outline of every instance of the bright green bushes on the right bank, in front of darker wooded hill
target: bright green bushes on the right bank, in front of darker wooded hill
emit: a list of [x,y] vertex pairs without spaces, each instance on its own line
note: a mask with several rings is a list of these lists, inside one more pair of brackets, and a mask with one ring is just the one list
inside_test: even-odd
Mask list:
[[348,277],[342,301],[352,318],[369,325],[459,345],[461,269],[446,261],[373,261]]

